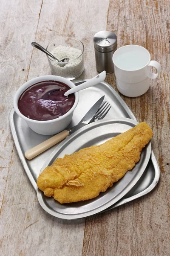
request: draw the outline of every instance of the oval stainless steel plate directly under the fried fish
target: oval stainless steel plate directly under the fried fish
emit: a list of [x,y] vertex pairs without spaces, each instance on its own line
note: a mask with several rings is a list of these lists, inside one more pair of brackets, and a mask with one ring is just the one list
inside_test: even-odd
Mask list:
[[[58,157],[62,158],[65,154],[72,154],[92,145],[100,145],[116,137],[118,134],[133,128],[137,124],[138,122],[135,120],[124,118],[97,121],[85,125],[60,143],[45,161],[41,172],[45,167],[50,166]],[[136,184],[147,167],[150,154],[151,143],[143,148],[141,159],[132,171],[128,171],[122,179],[94,199],[71,204],[59,204],[53,198],[47,198],[40,189],[37,189],[38,201],[46,212],[58,218],[77,219],[101,212],[119,201]]]

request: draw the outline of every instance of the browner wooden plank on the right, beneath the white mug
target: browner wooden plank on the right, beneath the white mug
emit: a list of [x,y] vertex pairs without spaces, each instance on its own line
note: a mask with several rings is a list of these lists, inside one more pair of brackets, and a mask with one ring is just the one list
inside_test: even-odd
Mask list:
[[[169,1],[110,1],[107,29],[116,33],[118,47],[139,44],[162,67],[159,79],[150,81],[150,89],[143,96],[133,99],[121,95],[136,118],[153,128],[152,146],[161,179],[149,195],[88,218],[83,256],[170,255],[169,12]],[[107,81],[116,89],[114,75],[107,76]]]

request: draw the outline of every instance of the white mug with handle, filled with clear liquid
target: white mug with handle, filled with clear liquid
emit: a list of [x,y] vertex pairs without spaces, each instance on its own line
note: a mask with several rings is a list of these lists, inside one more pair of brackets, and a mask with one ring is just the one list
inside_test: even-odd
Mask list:
[[[157,61],[150,61],[150,53],[139,45],[125,45],[113,54],[116,85],[120,93],[128,97],[137,97],[147,92],[150,79],[155,79],[161,65]],[[158,73],[152,73],[150,66]]]

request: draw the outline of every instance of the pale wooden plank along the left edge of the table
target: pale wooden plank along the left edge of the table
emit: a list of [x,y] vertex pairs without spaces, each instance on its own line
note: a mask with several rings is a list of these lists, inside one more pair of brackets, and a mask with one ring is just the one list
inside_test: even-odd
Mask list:
[[0,209],[11,162],[14,143],[8,125],[14,92],[26,81],[39,20],[41,0],[1,1],[0,22]]

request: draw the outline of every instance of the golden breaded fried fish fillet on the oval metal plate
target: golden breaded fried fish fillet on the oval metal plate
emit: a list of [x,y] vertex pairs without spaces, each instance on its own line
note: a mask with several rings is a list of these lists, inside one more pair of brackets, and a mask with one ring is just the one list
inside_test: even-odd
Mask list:
[[152,136],[141,122],[101,145],[57,158],[39,175],[37,186],[61,204],[95,198],[135,166]]

